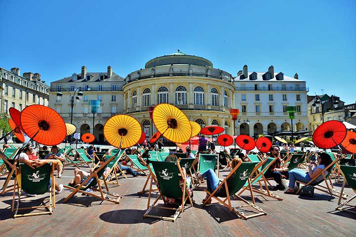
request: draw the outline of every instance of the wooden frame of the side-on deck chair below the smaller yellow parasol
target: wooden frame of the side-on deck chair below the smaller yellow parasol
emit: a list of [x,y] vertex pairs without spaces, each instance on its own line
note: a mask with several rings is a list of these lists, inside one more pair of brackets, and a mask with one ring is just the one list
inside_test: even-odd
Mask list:
[[[84,180],[77,188],[73,188],[71,186],[64,185],[65,188],[68,188],[68,189],[72,190],[73,192],[71,194],[69,194],[67,198],[65,198],[63,200],[63,203],[68,202],[69,199],[71,199],[74,195],[76,195],[78,192],[80,192],[80,193],[89,195],[91,197],[95,197],[97,199],[100,199],[101,201],[109,201],[111,203],[119,204],[122,197],[117,195],[117,194],[115,194],[115,193],[110,193],[109,192],[109,188],[107,186],[107,183],[106,183],[106,180],[105,180],[105,177],[104,177],[104,174],[103,174],[103,171],[104,171],[103,169],[106,169],[106,167],[109,164],[109,162],[111,162],[114,158],[115,158],[115,156],[112,156],[110,159],[108,159],[101,167],[99,167],[99,169],[95,170],[91,175],[89,175],[89,177],[86,180]],[[98,175],[98,173],[100,171],[102,171],[102,174]],[[99,176],[102,177],[101,180],[100,180]],[[92,181],[90,181],[89,184],[87,184],[88,180],[90,180],[91,178],[94,178],[94,179]],[[92,184],[93,184],[94,180],[96,181],[96,184],[98,185],[98,188],[92,187]],[[106,190],[103,190],[101,188],[101,185],[102,185],[101,181],[104,183]],[[87,188],[90,188],[93,191],[99,192],[99,195],[95,195],[94,193],[86,192],[85,190]],[[110,198],[107,195],[113,196],[116,199]]]

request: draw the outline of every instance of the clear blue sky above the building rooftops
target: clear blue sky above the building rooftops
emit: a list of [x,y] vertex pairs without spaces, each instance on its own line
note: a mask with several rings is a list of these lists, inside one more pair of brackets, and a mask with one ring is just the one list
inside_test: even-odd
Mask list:
[[232,75],[245,64],[298,72],[310,95],[323,89],[353,103],[355,12],[355,0],[1,0],[0,67],[47,83],[83,65],[125,77],[180,49]]

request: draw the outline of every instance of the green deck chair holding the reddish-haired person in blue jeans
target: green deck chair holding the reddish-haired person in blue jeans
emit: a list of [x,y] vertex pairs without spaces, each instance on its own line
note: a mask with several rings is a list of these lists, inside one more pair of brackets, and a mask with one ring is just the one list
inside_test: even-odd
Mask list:
[[[209,200],[214,198],[218,200],[219,203],[222,203],[224,206],[226,206],[230,211],[233,211],[234,213],[236,213],[238,216],[242,217],[245,220],[256,216],[267,215],[267,213],[264,210],[262,210],[260,207],[258,207],[255,203],[250,203],[245,199],[243,199],[241,196],[236,195],[236,193],[243,188],[244,184],[248,182],[248,185],[250,187],[251,198],[252,200],[254,200],[249,177],[253,173],[253,170],[255,170],[257,164],[259,163],[240,162],[226,176],[223,182],[219,184],[218,188],[209,191],[204,190],[209,195],[209,197],[204,201],[203,206],[206,205],[209,202]],[[245,203],[245,205],[232,207],[230,197],[233,195],[238,197],[243,203]],[[224,198],[224,200],[221,200],[219,197]],[[246,215],[245,213],[242,212],[242,210],[246,211],[245,209],[246,207],[252,207],[256,210],[256,212],[250,215]]]

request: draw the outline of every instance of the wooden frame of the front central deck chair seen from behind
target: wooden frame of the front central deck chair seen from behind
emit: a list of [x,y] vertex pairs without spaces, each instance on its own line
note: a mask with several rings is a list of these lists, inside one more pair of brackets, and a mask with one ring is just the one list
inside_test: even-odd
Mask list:
[[[178,172],[180,173],[181,175],[181,178],[183,179],[183,190],[184,192],[182,192],[182,201],[181,201],[181,204],[179,204],[178,208],[174,208],[174,207],[166,207],[166,206],[157,206],[156,203],[162,199],[163,202],[166,204],[166,201],[163,197],[163,194],[161,193],[161,190],[158,188],[158,193],[159,193],[159,196],[156,198],[156,200],[152,203],[152,205],[150,204],[150,201],[151,201],[151,192],[152,192],[152,182],[153,182],[153,179],[151,179],[151,182],[150,182],[150,192],[148,193],[148,200],[147,200],[147,211],[143,214],[143,218],[146,218],[146,217],[151,217],[151,218],[156,218],[156,219],[160,219],[160,220],[168,220],[168,221],[173,221],[175,222],[179,216],[180,213],[184,212],[184,204],[186,203],[187,200],[189,200],[189,204],[190,206],[193,206],[193,202],[190,198],[190,195],[189,195],[189,192],[188,192],[188,187],[186,187],[186,182],[185,182],[185,178],[183,177],[183,174],[182,174],[182,171],[181,171],[181,168],[180,168],[180,164],[179,164],[179,161],[180,159],[177,160],[176,162],[176,165],[177,165],[177,168],[178,168]],[[159,161],[158,161],[159,162]],[[159,162],[159,163],[166,163],[166,162]],[[171,162],[167,162],[167,163],[171,163]],[[149,167],[149,169],[151,169]],[[152,170],[151,170],[152,171]],[[177,174],[178,176],[178,174]],[[179,184],[178,184],[179,185]],[[180,189],[180,185],[178,187]],[[173,215],[173,217],[166,217],[166,216],[157,216],[157,215],[152,215],[152,214],[149,214],[149,212],[152,210],[152,209],[166,209],[166,210],[175,210],[175,214]]]

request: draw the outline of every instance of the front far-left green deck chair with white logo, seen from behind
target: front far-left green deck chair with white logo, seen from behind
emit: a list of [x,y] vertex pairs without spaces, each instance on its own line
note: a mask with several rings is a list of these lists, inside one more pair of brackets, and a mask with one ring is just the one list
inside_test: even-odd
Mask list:
[[[16,176],[18,178],[14,179],[14,185],[17,185],[18,200],[16,204],[16,211],[14,218],[19,216],[34,216],[34,215],[45,215],[52,214],[52,208],[55,208],[55,195],[54,195],[54,175],[53,169],[55,166],[51,164],[45,164],[44,166],[32,169],[26,164],[20,164],[20,170],[16,170]],[[21,174],[21,175],[20,175]],[[21,177],[20,177],[21,176]],[[18,182],[21,179],[21,182]],[[50,180],[52,182],[50,183]],[[28,194],[45,194],[49,192],[49,203],[42,206],[31,206],[31,207],[19,207],[21,203],[21,193],[25,191]],[[15,192],[12,195],[12,206],[11,211],[14,210],[15,206]],[[45,208],[46,210],[41,212],[17,214],[18,210],[23,209],[38,209]]]

